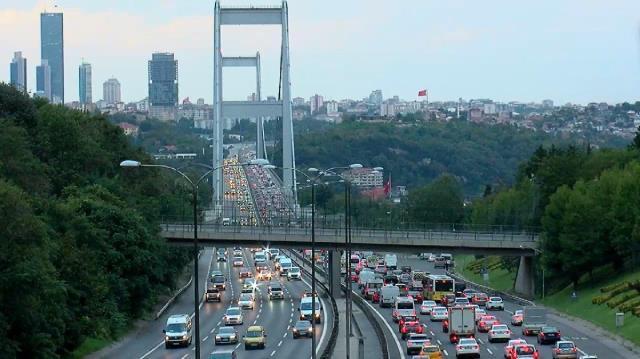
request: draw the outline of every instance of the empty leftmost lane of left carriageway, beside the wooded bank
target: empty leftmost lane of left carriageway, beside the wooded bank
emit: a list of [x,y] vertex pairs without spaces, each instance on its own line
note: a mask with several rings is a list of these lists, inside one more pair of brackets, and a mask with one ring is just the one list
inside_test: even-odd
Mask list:
[[[198,259],[199,277],[206,280],[207,270],[213,259],[212,250],[204,250]],[[191,268],[192,266],[190,266]],[[199,283],[201,283],[199,282]],[[203,288],[199,288],[204,293]],[[141,358],[145,355],[151,355],[157,350],[164,350],[164,334],[162,330],[165,327],[167,318],[177,313],[193,313],[193,283],[185,291],[179,295],[157,320],[148,321],[144,331],[140,331],[123,343],[122,346],[109,352],[110,357],[115,358]]]

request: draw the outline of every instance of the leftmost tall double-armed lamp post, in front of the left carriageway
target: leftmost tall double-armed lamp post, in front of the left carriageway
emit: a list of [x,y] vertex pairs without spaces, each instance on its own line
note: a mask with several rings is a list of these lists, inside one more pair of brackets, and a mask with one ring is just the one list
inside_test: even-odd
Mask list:
[[190,185],[191,185],[191,191],[192,191],[192,197],[193,197],[193,276],[194,276],[194,280],[193,280],[193,306],[194,306],[194,321],[195,321],[195,327],[196,327],[196,345],[195,345],[195,357],[196,358],[200,358],[200,310],[199,310],[199,305],[200,305],[200,301],[199,301],[199,288],[198,288],[198,277],[199,277],[199,271],[198,271],[198,188],[200,185],[200,182],[202,182],[202,180],[204,180],[205,178],[207,178],[207,176],[214,172],[219,170],[220,168],[223,167],[239,167],[239,166],[243,166],[243,165],[249,165],[249,164],[260,164],[260,162],[251,162],[251,163],[239,163],[236,165],[222,165],[222,166],[218,166],[218,167],[210,167],[208,165],[203,165],[203,164],[197,164],[198,166],[201,167],[205,167],[207,168],[207,172],[205,174],[203,174],[202,176],[200,176],[200,178],[198,178],[196,181],[193,181],[189,176],[187,176],[184,172],[180,171],[179,169],[175,168],[175,167],[171,167],[171,166],[167,166],[167,165],[154,165],[154,164],[144,164],[141,163],[139,161],[132,161],[132,160],[125,160],[120,162],[120,167],[156,167],[156,168],[164,168],[164,169],[168,169],[171,170],[177,174],[179,174],[180,176],[182,176],[182,178],[184,178]]

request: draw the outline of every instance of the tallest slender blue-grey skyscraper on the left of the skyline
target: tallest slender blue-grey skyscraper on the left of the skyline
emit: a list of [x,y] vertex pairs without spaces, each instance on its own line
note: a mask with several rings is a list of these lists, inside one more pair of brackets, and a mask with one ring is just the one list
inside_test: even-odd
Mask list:
[[62,13],[40,14],[40,58],[51,71],[51,102],[64,103],[64,36]]

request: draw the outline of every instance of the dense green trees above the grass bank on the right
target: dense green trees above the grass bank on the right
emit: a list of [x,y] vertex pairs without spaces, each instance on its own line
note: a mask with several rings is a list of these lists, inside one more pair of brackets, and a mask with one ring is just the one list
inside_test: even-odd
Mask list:
[[621,271],[640,251],[640,147],[538,148],[517,183],[473,204],[473,223],[536,226],[546,276],[559,284],[609,265]]

